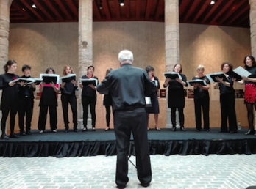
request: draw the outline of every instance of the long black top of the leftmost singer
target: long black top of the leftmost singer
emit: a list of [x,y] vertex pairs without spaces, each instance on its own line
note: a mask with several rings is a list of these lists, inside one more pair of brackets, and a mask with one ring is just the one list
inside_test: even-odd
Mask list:
[[12,105],[18,105],[18,87],[19,84],[10,86],[9,82],[19,78],[13,73],[4,73],[0,75],[0,89],[3,90],[1,94],[1,110],[10,108]]

